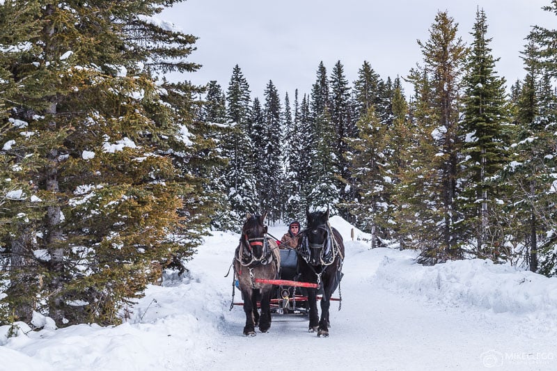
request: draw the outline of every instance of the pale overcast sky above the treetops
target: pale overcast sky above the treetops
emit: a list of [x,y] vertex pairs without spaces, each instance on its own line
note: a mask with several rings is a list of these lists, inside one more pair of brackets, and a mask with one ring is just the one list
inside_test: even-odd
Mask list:
[[[162,13],[185,33],[197,36],[190,60],[203,65],[186,74],[194,84],[217,80],[223,90],[233,67],[240,66],[252,97],[263,97],[269,79],[281,99],[288,91],[311,92],[317,66],[327,72],[344,66],[352,83],[363,61],[382,79],[406,77],[422,64],[416,40],[427,40],[438,10],[458,23],[459,35],[471,40],[478,6],[485,10],[488,37],[499,76],[507,85],[524,77],[519,52],[531,26],[554,28],[557,16],[542,10],[550,0],[188,0]],[[410,90],[405,84],[407,95]]]

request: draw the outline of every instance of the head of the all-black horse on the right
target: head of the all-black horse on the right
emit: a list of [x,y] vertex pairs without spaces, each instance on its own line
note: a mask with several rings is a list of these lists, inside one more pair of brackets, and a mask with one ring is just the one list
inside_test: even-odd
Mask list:
[[306,212],[308,227],[301,239],[300,252],[311,265],[320,265],[331,253],[331,229],[329,207],[326,212]]

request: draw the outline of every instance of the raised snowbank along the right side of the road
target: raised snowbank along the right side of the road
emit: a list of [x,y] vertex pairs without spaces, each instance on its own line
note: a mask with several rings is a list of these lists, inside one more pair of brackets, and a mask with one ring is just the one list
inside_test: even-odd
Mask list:
[[557,314],[557,278],[491,260],[458,260],[423,267],[411,253],[384,257],[375,280],[389,290],[411,292],[448,306],[472,305],[494,313]]

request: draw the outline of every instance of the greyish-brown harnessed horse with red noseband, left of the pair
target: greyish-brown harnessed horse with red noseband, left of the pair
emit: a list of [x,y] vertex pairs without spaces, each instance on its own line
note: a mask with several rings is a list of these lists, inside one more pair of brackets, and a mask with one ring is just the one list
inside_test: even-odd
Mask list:
[[[255,326],[267,332],[271,327],[271,292],[273,285],[256,283],[256,278],[275,279],[281,267],[281,255],[274,239],[267,237],[265,216],[246,215],[240,244],[234,255],[234,271],[246,313],[245,336],[255,336]],[[260,298],[261,314],[257,301]]]

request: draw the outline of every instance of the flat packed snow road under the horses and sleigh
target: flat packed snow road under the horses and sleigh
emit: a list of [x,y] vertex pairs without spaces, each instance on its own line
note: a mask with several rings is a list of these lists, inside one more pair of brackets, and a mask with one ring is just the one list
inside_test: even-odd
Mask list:
[[[281,230],[270,228],[274,236]],[[215,341],[219,356],[203,367],[214,370],[278,368],[295,370],[556,370],[555,328],[535,319],[460,306],[397,290],[377,277],[379,267],[393,260],[411,264],[414,253],[386,248],[369,250],[346,238],[346,258],[341,284],[342,309],[331,303],[329,338],[308,333],[302,315],[273,315],[269,333],[245,338],[240,306],[224,315],[221,338]],[[232,251],[231,246],[227,246]],[[223,248],[224,249],[224,248]],[[201,251],[200,251],[201,253]],[[229,253],[226,258],[230,260]],[[217,258],[215,251],[212,259]],[[197,258],[196,258],[197,259]],[[225,259],[224,262],[227,262]],[[191,262],[191,268],[207,269],[207,261]],[[223,269],[212,265],[224,287]],[[425,269],[425,268],[421,268]],[[208,274],[208,272],[207,272]],[[220,275],[220,277],[219,277]],[[222,278],[222,279],[221,279]],[[388,278],[386,278],[388,280]],[[237,292],[237,294],[239,294]],[[338,292],[336,292],[338,297]],[[549,331],[548,331],[549,330]]]

